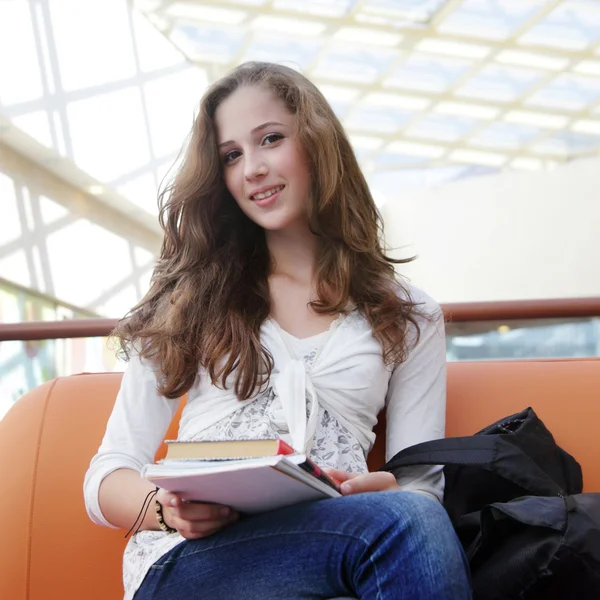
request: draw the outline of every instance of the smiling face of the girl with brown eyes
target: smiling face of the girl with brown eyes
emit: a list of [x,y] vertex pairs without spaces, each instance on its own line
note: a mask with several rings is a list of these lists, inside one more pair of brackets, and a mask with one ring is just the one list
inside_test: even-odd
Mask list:
[[267,231],[308,224],[310,173],[293,115],[259,86],[241,87],[215,113],[227,189]]

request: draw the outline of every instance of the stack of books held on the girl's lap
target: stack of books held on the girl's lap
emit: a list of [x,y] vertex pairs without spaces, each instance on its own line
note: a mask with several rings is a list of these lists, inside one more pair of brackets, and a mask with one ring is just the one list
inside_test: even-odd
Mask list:
[[337,482],[281,439],[167,442],[142,476],[183,500],[260,513],[340,496]]

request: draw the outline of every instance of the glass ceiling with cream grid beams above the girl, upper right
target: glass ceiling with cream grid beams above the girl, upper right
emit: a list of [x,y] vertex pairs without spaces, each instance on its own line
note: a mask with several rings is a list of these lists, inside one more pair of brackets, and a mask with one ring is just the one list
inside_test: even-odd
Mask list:
[[367,174],[543,169],[600,153],[597,0],[137,0],[216,79],[292,66],[327,96]]

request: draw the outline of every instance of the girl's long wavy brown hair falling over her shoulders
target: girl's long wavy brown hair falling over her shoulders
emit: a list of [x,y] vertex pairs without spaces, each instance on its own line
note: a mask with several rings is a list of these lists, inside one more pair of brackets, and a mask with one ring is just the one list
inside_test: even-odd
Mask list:
[[271,312],[265,233],[225,187],[217,150],[215,111],[241,86],[263,86],[283,100],[309,159],[309,223],[319,240],[311,308],[336,315],[355,307],[387,364],[406,358],[408,324],[419,332],[417,306],[394,271],[411,259],[385,254],[380,214],[328,102],[293,69],[244,63],[201,100],[180,167],[159,194],[164,240],[150,289],[114,331],[127,358],[135,347],[157,367],[158,391],[168,398],[187,392],[202,367],[215,385],[233,381],[245,400],[273,369],[260,340]]

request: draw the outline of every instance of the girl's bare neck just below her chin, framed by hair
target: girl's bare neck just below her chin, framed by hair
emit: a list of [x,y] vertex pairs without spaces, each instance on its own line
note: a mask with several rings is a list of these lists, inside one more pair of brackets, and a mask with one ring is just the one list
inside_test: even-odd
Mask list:
[[285,231],[267,231],[267,246],[273,259],[272,275],[283,275],[311,283],[318,252],[318,238],[308,227]]

